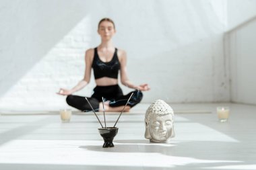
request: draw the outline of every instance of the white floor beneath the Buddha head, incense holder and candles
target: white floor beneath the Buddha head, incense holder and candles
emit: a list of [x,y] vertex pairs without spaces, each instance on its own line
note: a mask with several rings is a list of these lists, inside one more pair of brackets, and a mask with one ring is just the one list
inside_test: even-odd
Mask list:
[[[218,122],[218,105],[230,106],[228,122]],[[176,137],[170,144],[144,138],[148,106],[121,116],[114,148],[102,148],[93,113],[75,113],[69,123],[57,114],[2,113],[0,169],[256,169],[256,106],[171,105]],[[118,116],[107,114],[107,126]]]

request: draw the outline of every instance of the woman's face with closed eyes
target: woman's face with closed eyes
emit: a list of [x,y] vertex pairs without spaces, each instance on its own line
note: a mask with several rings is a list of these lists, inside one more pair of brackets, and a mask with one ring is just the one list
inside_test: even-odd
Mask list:
[[100,34],[102,40],[110,40],[115,35],[115,32],[114,25],[111,22],[104,21],[100,23],[98,34]]

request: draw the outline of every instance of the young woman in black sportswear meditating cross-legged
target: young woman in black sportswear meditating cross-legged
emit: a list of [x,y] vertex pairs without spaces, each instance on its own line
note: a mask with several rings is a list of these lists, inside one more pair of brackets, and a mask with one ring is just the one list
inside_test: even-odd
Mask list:
[[[98,34],[101,38],[101,43],[96,48],[86,50],[86,71],[84,79],[79,81],[72,89],[60,89],[59,95],[67,95],[67,103],[73,108],[82,110],[83,112],[91,111],[90,105],[85,97],[72,95],[75,91],[86,87],[90,82],[92,69],[94,70],[94,78],[96,87],[92,97],[88,97],[94,110],[102,111],[104,101],[104,109],[106,112],[120,112],[123,110],[127,99],[131,97],[127,104],[125,111],[128,112],[130,108],[139,103],[142,99],[141,91],[148,91],[150,87],[148,84],[133,85],[127,77],[127,56],[124,50],[115,48],[112,38],[115,35],[115,24],[112,19],[103,18],[98,24]],[[121,83],[135,91],[131,91],[127,95],[123,95],[123,91],[118,85],[118,74],[121,73]]]

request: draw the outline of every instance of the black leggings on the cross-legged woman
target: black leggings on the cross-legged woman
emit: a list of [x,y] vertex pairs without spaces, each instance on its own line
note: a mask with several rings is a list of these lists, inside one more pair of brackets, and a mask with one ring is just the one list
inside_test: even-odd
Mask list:
[[[131,97],[129,103],[127,103],[127,100],[129,99],[131,93],[133,93],[133,96]],[[102,97],[104,98],[104,101],[110,101],[110,107],[118,107],[127,103],[127,105],[132,108],[141,101],[143,94],[141,93],[141,91],[135,90],[131,91],[127,95],[123,95],[123,91],[119,87],[119,85],[96,86],[94,88],[94,93],[92,97],[87,97],[88,101],[90,102],[92,108],[94,108],[95,111],[98,111],[99,103],[102,101]],[[66,101],[68,105],[71,105],[73,108],[77,108],[82,112],[92,111],[92,108],[86,101],[86,98],[83,96],[68,95]]]

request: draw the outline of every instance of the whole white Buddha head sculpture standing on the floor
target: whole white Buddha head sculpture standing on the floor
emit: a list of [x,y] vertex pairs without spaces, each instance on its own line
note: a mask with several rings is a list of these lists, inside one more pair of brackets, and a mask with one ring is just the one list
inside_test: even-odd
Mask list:
[[150,142],[169,142],[174,134],[174,114],[170,105],[161,99],[150,105],[145,115],[145,138]]

